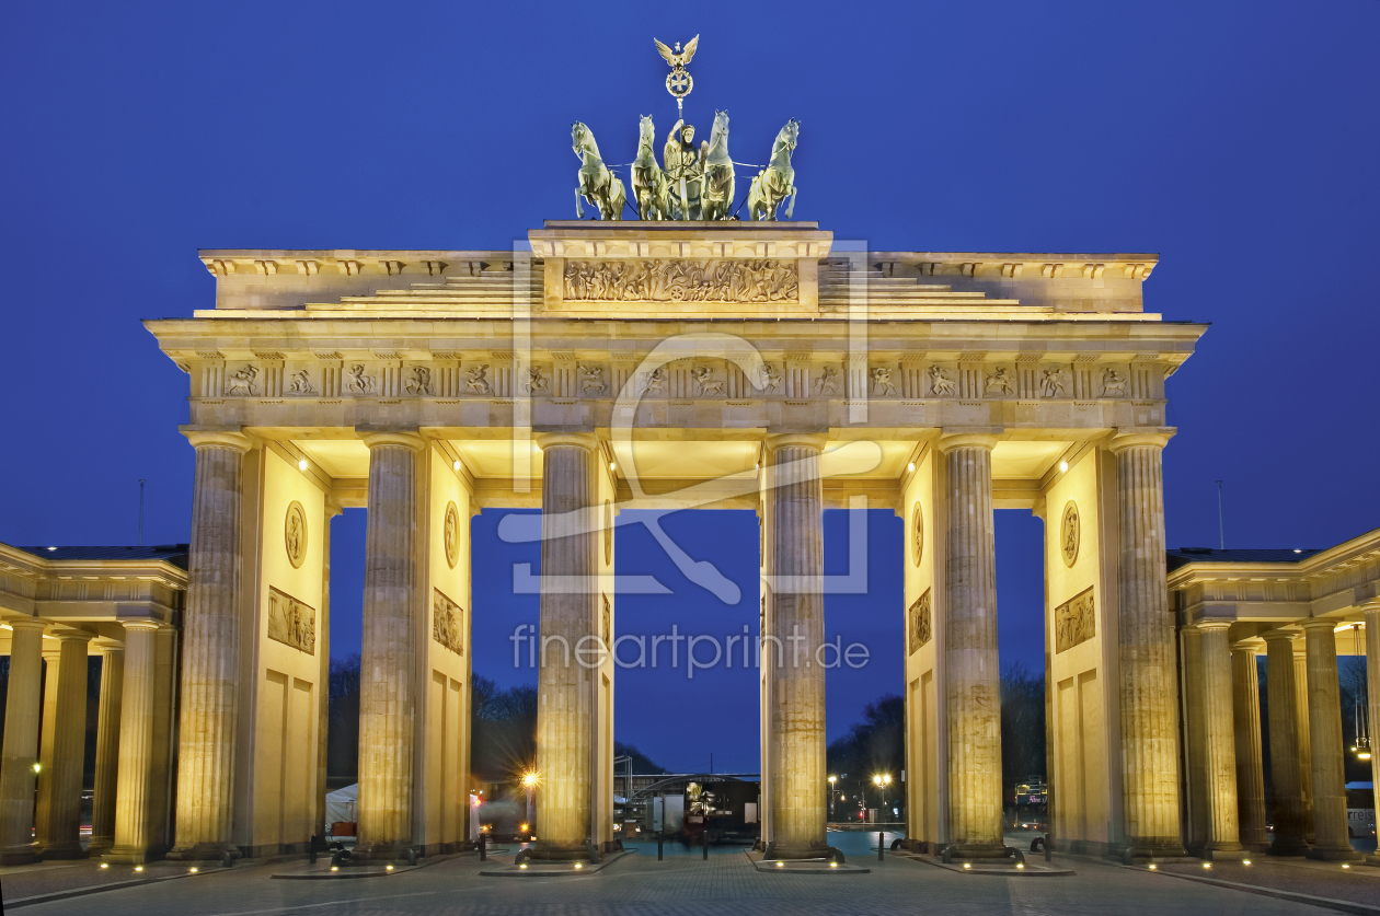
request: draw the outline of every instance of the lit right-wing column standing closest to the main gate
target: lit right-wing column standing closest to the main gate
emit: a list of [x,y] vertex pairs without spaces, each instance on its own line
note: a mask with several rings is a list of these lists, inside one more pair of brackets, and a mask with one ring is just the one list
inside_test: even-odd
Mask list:
[[1202,622],[1203,786],[1208,802],[1208,843],[1216,858],[1234,858],[1245,847],[1236,813],[1236,742],[1232,721],[1231,646],[1225,621]]

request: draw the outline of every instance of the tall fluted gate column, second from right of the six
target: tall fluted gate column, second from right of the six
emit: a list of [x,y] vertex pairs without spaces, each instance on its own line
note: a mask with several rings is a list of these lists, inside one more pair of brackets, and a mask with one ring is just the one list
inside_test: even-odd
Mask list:
[[949,844],[965,858],[1005,857],[1002,681],[996,657],[992,531],[995,436],[944,436],[944,681]]

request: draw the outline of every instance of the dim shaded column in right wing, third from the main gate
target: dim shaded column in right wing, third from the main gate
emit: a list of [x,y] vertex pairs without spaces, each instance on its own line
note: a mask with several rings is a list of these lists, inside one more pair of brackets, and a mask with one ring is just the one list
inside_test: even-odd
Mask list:
[[1303,796],[1299,774],[1299,704],[1294,699],[1293,633],[1265,636],[1265,690],[1270,697],[1270,782],[1274,786],[1275,840],[1271,855],[1299,855],[1303,840]]

